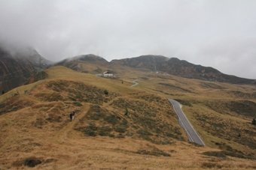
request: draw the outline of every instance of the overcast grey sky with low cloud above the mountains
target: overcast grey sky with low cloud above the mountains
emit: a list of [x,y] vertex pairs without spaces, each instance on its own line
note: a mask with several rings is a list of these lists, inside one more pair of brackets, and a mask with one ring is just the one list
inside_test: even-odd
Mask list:
[[255,0],[0,0],[0,40],[51,61],[176,57],[256,79]]

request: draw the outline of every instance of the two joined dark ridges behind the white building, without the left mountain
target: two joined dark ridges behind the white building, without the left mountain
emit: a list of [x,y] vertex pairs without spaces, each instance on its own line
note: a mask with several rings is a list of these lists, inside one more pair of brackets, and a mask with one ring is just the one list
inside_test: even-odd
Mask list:
[[[119,74],[120,67],[130,67],[133,69],[168,73],[189,79],[202,79],[206,81],[227,82],[232,84],[256,84],[255,79],[245,79],[227,75],[212,67],[203,67],[201,65],[191,64],[184,60],[179,60],[178,58],[166,58],[161,55],[142,55],[136,58],[125,58],[110,62],[96,55],[81,55],[75,58],[67,58],[57,65],[69,67],[83,73],[102,73],[105,70],[111,70],[112,72]],[[119,73],[116,70],[119,70]]]

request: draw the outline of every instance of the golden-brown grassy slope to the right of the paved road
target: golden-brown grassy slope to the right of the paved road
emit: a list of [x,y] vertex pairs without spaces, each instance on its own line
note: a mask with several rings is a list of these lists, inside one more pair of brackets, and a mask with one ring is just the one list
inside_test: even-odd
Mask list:
[[171,97],[183,104],[184,112],[206,145],[221,148],[227,154],[255,156],[256,127],[251,124],[256,117],[255,86],[157,74],[144,77],[139,82],[143,86],[151,83],[148,91],[157,91],[158,95]]

